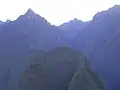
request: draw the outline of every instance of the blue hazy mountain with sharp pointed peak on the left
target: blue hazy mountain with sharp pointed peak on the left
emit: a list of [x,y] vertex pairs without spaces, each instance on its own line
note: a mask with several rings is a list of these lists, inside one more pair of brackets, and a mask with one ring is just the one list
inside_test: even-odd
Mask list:
[[60,46],[60,42],[59,28],[31,9],[3,25],[0,28],[0,90],[15,90],[13,87],[17,86],[21,72],[29,65],[29,58]]

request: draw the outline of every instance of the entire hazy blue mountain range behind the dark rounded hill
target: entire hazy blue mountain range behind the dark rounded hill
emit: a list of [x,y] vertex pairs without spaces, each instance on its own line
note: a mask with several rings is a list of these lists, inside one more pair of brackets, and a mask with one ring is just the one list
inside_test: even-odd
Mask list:
[[16,90],[31,58],[58,46],[84,53],[108,90],[120,90],[119,38],[119,5],[97,13],[89,22],[74,19],[60,26],[52,26],[31,9],[15,21],[0,21],[0,90]]

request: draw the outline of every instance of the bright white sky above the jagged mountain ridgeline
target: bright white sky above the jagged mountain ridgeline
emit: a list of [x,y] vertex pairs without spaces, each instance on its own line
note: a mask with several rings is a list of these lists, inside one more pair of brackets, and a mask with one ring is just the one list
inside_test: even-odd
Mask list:
[[0,0],[0,20],[15,20],[31,8],[54,25],[74,18],[89,21],[115,4],[120,0]]

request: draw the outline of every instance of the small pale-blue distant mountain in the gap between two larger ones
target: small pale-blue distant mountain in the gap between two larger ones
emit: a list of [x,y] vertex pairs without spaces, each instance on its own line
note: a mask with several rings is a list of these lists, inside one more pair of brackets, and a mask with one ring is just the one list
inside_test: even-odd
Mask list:
[[83,29],[88,22],[83,22],[78,19],[73,19],[67,23],[63,23],[59,26],[59,28],[64,32],[64,37],[71,39],[75,36],[77,36],[78,32],[80,32],[81,29]]

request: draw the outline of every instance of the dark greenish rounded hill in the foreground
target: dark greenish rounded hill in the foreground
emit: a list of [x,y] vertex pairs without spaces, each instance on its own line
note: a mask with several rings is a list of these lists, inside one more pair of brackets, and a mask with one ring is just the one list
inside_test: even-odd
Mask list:
[[82,53],[57,47],[33,59],[23,73],[20,90],[105,90]]

